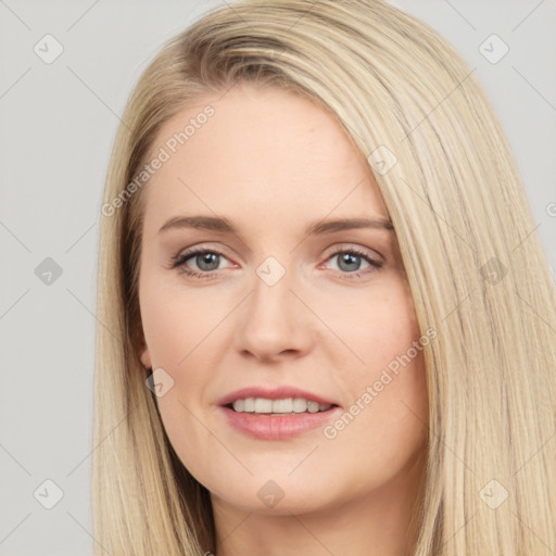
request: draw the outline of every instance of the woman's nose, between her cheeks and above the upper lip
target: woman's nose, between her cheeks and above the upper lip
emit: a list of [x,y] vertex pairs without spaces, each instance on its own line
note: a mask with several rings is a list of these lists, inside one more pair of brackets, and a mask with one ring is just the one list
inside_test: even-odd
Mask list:
[[236,349],[243,357],[265,363],[308,353],[317,331],[315,316],[301,301],[299,283],[290,273],[270,286],[255,275],[236,328]]

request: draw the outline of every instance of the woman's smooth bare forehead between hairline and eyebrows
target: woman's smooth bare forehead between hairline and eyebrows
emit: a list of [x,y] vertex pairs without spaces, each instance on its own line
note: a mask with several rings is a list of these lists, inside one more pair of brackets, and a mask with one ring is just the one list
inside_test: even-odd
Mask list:
[[201,210],[266,225],[331,211],[387,215],[367,161],[341,124],[281,89],[242,84],[199,99],[165,123],[151,152],[164,162],[146,186],[146,226]]

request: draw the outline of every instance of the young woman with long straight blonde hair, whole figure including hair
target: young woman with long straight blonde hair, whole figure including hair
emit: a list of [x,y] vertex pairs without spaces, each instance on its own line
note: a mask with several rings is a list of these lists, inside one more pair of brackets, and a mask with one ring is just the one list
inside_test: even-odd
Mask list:
[[555,289],[446,41],[377,0],[242,1],[122,119],[99,554],[552,554]]

